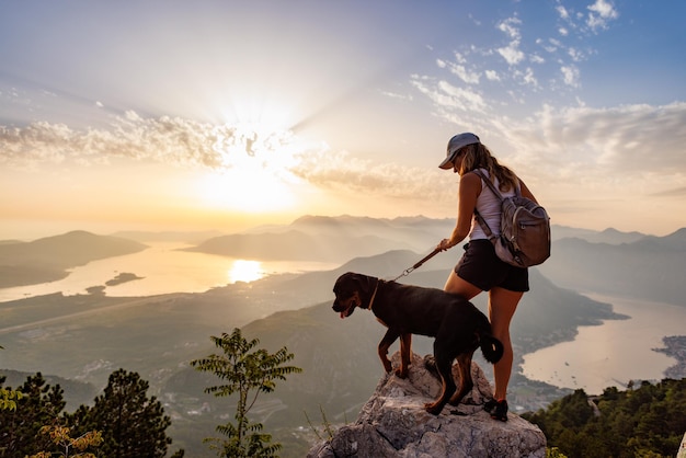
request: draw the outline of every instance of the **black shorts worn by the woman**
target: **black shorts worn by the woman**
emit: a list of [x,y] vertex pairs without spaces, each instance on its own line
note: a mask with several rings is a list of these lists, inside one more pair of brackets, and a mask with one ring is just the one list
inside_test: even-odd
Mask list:
[[529,290],[528,270],[501,261],[493,243],[485,239],[471,240],[465,245],[465,254],[455,266],[455,273],[484,291],[494,286],[511,291]]

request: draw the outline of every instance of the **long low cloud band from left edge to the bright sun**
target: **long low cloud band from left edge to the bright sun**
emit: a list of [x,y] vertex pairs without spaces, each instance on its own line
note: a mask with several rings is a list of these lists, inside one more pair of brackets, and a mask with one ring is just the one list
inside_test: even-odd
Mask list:
[[217,169],[231,168],[244,156],[266,161],[268,154],[288,150],[294,142],[287,131],[260,135],[249,128],[181,117],[144,118],[129,111],[108,129],[76,130],[46,122],[22,128],[0,126],[0,163],[32,168],[45,162],[89,164],[128,158]]

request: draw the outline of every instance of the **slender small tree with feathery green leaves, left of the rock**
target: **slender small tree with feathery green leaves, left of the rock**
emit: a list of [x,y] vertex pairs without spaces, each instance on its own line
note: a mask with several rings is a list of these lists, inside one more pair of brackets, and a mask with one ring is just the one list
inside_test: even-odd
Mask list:
[[[231,335],[222,333],[221,337],[211,336],[210,340],[224,355],[213,354],[203,359],[191,362],[191,366],[201,371],[215,374],[224,381],[222,385],[205,389],[206,393],[214,393],[216,397],[227,397],[238,393],[236,408],[236,425],[228,422],[226,425],[217,426],[217,432],[228,437],[228,440],[219,438],[206,438],[205,443],[216,443],[210,445],[218,451],[220,457],[243,458],[243,457],[274,457],[281,449],[281,444],[268,444],[272,440],[270,434],[262,434],[261,423],[250,423],[248,412],[254,405],[260,392],[272,392],[275,389],[274,380],[285,380],[286,375],[301,373],[302,369],[295,366],[282,366],[294,358],[293,353],[288,353],[286,347],[274,354],[266,350],[258,348],[260,341],[254,339],[248,342],[241,334],[240,329],[233,329]],[[254,396],[249,399],[250,391],[254,390]]]

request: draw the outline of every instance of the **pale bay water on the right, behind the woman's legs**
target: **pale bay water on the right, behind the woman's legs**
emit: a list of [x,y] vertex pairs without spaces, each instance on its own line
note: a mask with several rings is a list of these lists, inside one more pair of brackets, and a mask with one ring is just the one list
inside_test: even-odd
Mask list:
[[655,352],[662,337],[686,335],[686,307],[592,293],[591,299],[611,304],[627,320],[606,320],[581,327],[572,342],[562,342],[524,356],[523,374],[560,388],[583,388],[601,394],[605,388],[625,389],[629,381],[658,381],[676,359]]

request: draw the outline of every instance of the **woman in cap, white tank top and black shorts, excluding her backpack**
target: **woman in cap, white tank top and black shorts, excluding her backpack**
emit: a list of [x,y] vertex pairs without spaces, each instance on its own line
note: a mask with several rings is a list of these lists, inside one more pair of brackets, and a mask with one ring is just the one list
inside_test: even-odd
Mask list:
[[495,420],[507,421],[507,383],[512,371],[513,352],[510,340],[510,321],[525,291],[529,290],[528,271],[501,261],[493,243],[475,218],[478,210],[494,234],[500,234],[501,203],[475,171],[491,180],[503,196],[512,196],[519,187],[522,195],[536,202],[524,182],[510,169],[498,163],[479,137],[465,133],[448,141],[446,159],[441,169],[459,173],[457,224],[449,238],[438,243],[439,250],[448,250],[469,236],[465,253],[450,272],[444,289],[471,299],[481,291],[489,291],[489,319],[493,335],[504,346],[503,357],[493,365],[494,399],[485,403],[485,410]]

